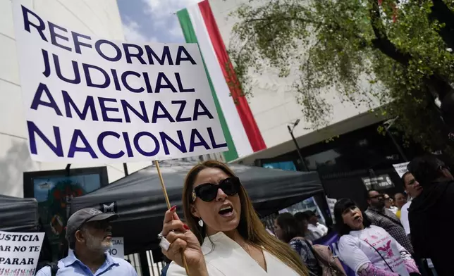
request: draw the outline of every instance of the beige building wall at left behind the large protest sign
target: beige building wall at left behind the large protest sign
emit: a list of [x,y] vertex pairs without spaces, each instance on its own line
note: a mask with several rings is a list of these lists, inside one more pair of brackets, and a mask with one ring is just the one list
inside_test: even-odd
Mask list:
[[[116,0],[24,0],[23,3],[43,18],[71,30],[123,40]],[[25,171],[60,170],[66,167],[63,163],[39,163],[30,159],[11,0],[0,0],[0,118],[0,194],[23,196]],[[145,165],[150,163],[135,163],[129,165],[129,170],[138,170]],[[84,166],[89,165],[74,164],[71,168]],[[111,182],[124,176],[122,164],[107,165],[107,170]]]

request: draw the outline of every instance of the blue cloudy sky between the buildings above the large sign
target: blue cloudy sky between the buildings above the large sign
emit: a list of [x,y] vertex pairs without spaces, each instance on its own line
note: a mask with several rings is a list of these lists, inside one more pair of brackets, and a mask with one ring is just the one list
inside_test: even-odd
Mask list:
[[176,12],[200,0],[117,0],[129,42],[185,42]]

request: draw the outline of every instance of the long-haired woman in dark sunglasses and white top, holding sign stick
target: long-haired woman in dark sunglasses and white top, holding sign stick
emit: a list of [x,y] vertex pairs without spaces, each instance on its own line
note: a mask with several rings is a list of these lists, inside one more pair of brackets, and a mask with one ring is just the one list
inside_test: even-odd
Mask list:
[[304,275],[307,269],[287,244],[266,232],[247,192],[227,165],[205,161],[188,172],[183,187],[183,211],[166,212],[161,236],[173,260],[167,276]]

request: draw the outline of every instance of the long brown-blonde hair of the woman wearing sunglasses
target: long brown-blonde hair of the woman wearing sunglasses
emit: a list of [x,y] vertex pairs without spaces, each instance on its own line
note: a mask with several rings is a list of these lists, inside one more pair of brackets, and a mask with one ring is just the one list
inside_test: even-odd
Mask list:
[[[205,168],[218,168],[225,172],[228,176],[235,176],[233,171],[228,168],[226,164],[219,161],[204,161],[203,163],[195,165],[195,167],[188,172],[183,187],[183,211],[188,226],[195,234],[195,237],[197,237],[200,244],[203,243],[204,237],[207,233],[205,232],[204,227],[200,227],[200,225],[198,225],[197,218],[195,218],[191,213],[192,186],[194,185],[195,178],[199,172]],[[250,201],[250,198],[243,186],[241,186],[238,195],[240,196],[241,202],[241,216],[237,230],[243,239],[245,239],[252,246],[257,248],[263,247],[265,251],[276,256],[276,258],[288,265],[289,268],[295,270],[295,272],[299,275],[309,275],[307,268],[302,263],[297,253],[293,251],[288,244],[284,244],[266,232],[265,227],[255,212],[252,202]]]

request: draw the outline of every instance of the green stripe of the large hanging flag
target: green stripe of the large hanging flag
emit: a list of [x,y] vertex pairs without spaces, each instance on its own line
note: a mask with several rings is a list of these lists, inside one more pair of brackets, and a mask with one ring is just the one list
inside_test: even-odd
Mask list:
[[[183,30],[183,35],[185,36],[186,42],[198,44],[199,42],[197,41],[197,37],[195,35],[194,28],[192,27],[192,23],[191,23],[191,20],[189,17],[188,10],[183,9],[181,11],[178,11],[176,14],[178,16],[178,20],[180,20],[181,30]],[[199,48],[199,51],[200,51],[200,48]],[[223,131],[224,137],[226,138],[226,142],[227,142],[227,146],[228,146],[228,151],[224,151],[223,155],[224,155],[224,158],[226,158],[227,162],[232,161],[232,160],[235,160],[236,158],[238,158],[238,153],[236,152],[235,144],[233,144],[232,136],[230,134],[230,131],[228,130],[226,118],[224,117],[221,106],[219,105],[218,96],[216,95],[213,84],[211,83],[211,78],[209,77],[209,73],[207,70],[207,66],[205,65],[205,61],[203,59],[202,52],[200,52],[200,55],[202,56],[205,73],[207,73],[209,88],[211,89],[211,95],[213,95],[214,105],[216,106],[216,111],[218,112],[219,121],[221,122],[222,131]]]

